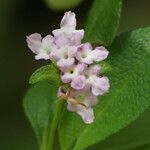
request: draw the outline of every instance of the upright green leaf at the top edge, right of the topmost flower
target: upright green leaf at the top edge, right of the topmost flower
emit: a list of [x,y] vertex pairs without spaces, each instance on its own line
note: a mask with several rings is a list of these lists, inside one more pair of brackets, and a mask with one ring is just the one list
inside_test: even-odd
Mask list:
[[89,13],[85,41],[110,45],[119,25],[122,0],[95,0]]

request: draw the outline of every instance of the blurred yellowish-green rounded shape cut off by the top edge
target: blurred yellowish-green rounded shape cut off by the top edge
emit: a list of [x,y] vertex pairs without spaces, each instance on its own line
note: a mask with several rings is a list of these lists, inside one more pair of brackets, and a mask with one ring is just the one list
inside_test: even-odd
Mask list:
[[54,10],[66,10],[74,8],[83,0],[45,0],[48,7]]

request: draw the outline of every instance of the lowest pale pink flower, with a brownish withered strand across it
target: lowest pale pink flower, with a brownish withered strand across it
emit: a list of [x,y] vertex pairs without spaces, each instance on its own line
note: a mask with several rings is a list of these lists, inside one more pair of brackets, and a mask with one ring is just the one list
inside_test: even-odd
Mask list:
[[[59,88],[59,97],[65,93],[66,91],[63,88]],[[97,97],[90,92],[90,89],[72,90],[69,97],[74,101],[67,101],[67,109],[72,112],[77,112],[85,123],[92,123],[94,121],[92,106],[97,104]]]

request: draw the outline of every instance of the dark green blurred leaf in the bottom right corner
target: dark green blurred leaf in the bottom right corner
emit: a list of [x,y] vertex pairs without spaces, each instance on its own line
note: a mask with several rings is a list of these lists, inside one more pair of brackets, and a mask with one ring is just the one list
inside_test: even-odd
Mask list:
[[150,109],[146,110],[136,121],[110,136],[103,142],[95,144],[88,150],[135,150],[150,143]]

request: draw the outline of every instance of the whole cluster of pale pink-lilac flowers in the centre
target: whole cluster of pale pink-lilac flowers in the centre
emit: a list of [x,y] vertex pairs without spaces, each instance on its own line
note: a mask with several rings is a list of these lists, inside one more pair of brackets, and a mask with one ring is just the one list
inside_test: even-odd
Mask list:
[[76,17],[70,11],[62,18],[60,29],[52,33],[43,39],[38,33],[27,36],[28,47],[36,60],[50,59],[58,66],[62,82],[70,85],[70,91],[60,87],[58,96],[67,100],[69,111],[92,123],[97,96],[109,90],[109,80],[96,63],[106,59],[109,52],[103,46],[93,49],[90,43],[81,43],[84,30],[76,30]]

